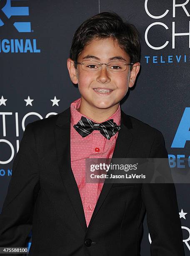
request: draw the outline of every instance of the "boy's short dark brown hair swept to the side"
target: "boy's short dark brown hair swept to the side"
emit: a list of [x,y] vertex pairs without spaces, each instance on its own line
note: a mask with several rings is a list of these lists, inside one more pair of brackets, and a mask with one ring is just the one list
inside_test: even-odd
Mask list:
[[137,28],[124,22],[114,12],[99,13],[85,20],[77,28],[72,38],[70,59],[77,62],[78,55],[94,38],[108,37],[112,37],[114,41],[117,40],[120,48],[130,56],[131,63],[140,61],[140,34]]

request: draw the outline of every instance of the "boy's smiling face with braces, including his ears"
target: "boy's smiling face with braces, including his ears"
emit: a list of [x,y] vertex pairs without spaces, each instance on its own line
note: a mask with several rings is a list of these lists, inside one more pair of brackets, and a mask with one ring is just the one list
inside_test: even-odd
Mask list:
[[[85,59],[89,60],[86,56],[95,56],[98,59],[90,57],[90,60],[100,63],[108,63],[110,58],[121,56],[126,60],[126,63],[130,63],[128,54],[122,50],[120,46],[118,46],[117,41],[114,42],[112,38],[93,39],[84,47],[77,61],[82,62]],[[140,63],[135,63],[131,72],[130,66],[127,66],[127,69],[122,72],[107,71],[106,65],[102,65],[101,70],[98,71],[83,70],[81,64],[77,64],[77,69],[75,69],[71,59],[67,59],[67,67],[72,82],[78,84],[83,108],[85,104],[88,109],[107,109],[113,106],[118,107],[119,102],[128,92],[128,87],[133,87],[140,69]],[[108,94],[97,93],[93,90],[94,88],[110,89],[112,92]]]

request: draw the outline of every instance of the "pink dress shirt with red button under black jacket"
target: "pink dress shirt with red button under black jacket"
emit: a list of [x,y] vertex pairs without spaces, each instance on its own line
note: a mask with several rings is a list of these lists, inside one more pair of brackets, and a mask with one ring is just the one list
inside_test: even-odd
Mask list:
[[[70,152],[71,152],[71,168],[74,174],[82,205],[85,213],[87,226],[90,223],[92,213],[97,203],[98,197],[103,187],[103,183],[85,183],[85,159],[87,158],[112,158],[118,132],[107,140],[100,131],[93,131],[90,135],[82,138],[82,136],[73,128],[78,123],[82,115],[78,112],[80,108],[81,98],[75,100],[70,105],[71,123],[70,123]],[[89,118],[89,117],[87,117]],[[108,119],[113,119],[117,125],[120,125],[120,105],[117,111]],[[89,118],[92,120],[91,118]],[[105,121],[106,121],[105,120]],[[95,122],[94,120],[92,120]],[[96,122],[95,122],[96,123]],[[96,148],[96,150],[95,150]],[[100,149],[99,152],[98,149]]]

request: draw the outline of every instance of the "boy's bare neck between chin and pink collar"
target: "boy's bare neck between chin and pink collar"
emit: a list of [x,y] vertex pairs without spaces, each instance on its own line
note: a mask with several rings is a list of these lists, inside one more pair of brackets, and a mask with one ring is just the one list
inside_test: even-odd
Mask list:
[[95,106],[89,105],[82,97],[80,102],[80,108],[77,110],[82,114],[86,115],[88,118],[91,118],[96,123],[102,123],[111,115],[113,115],[120,103],[110,107],[110,108],[96,108]]

